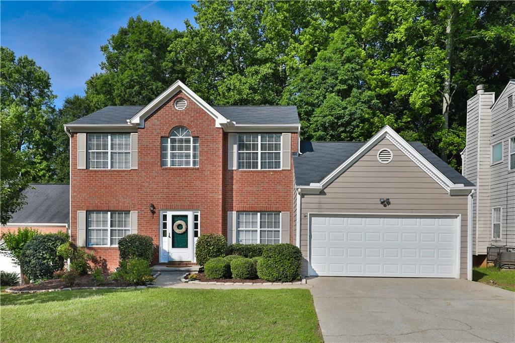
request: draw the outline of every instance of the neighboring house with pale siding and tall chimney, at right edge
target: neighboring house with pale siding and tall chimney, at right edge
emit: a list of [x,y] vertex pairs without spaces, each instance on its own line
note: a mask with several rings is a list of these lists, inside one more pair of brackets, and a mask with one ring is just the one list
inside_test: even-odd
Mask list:
[[487,247],[515,246],[515,80],[501,95],[485,92],[467,101],[467,144],[462,174],[477,185],[473,195],[473,254],[486,262]]

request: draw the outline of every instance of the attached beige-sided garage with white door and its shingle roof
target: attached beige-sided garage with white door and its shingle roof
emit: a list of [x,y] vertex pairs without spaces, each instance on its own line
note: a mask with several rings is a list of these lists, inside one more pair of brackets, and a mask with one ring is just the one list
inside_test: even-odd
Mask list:
[[385,127],[368,142],[302,142],[295,236],[306,276],[471,278],[475,186]]

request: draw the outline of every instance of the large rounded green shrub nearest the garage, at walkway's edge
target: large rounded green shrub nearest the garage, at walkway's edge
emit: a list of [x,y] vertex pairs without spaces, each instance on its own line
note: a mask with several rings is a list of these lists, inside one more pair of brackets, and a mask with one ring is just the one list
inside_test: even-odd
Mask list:
[[302,253],[293,244],[269,245],[258,262],[258,276],[271,282],[291,282],[300,278]]

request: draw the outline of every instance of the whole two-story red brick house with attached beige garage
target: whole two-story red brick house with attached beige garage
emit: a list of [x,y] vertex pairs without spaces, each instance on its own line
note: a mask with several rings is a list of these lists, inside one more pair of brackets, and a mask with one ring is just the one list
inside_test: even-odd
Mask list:
[[217,233],[295,244],[304,275],[469,276],[474,185],[389,127],[301,148],[295,107],[210,106],[177,81],[65,130],[72,241],[111,269],[126,234],[151,236],[153,262],[173,263],[195,262],[197,237]]

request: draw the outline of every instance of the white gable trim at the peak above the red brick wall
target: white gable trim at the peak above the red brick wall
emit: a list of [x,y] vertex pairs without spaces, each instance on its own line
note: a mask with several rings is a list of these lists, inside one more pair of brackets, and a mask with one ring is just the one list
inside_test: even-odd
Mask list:
[[186,94],[193,101],[195,101],[195,103],[198,106],[200,106],[205,112],[211,115],[215,119],[215,127],[222,127],[222,125],[226,125],[229,122],[227,118],[222,116],[207,102],[202,100],[202,98],[195,94],[184,83],[182,83],[180,80],[177,80],[167,90],[165,90],[163,93],[159,94],[155,99],[150,101],[147,106],[141,109],[132,118],[128,119],[127,123],[138,126],[140,128],[145,127],[145,119],[158,108],[160,108],[166,101],[168,101],[172,96],[177,94],[177,92],[179,91],[184,92],[184,94]]

